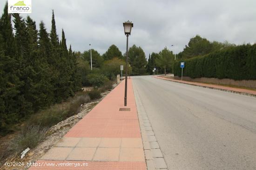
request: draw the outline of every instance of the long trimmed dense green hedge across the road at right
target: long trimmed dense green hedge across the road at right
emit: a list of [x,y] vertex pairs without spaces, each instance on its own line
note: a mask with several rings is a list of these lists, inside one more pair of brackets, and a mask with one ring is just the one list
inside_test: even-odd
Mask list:
[[182,75],[182,61],[185,62],[183,76],[256,80],[256,44],[239,45],[205,56],[177,61],[174,64],[175,76]]

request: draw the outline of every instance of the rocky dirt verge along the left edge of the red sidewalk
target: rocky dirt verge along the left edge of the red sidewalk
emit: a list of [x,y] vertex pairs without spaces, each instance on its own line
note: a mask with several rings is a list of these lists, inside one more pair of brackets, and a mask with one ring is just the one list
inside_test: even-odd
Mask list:
[[[94,108],[94,106],[96,106],[108,93],[110,92],[104,92],[101,94],[102,97],[100,99],[83,104],[79,113],[49,128],[47,131],[47,138],[37,147],[28,151],[26,156],[22,159],[20,159],[20,153],[7,157],[7,159],[2,161],[2,164],[0,164],[0,170],[27,170],[27,163],[33,163],[42,157],[56,142],[58,142],[59,139],[61,139],[69,131],[69,129],[71,129],[71,127],[73,127],[79,120],[81,120],[87,113],[89,113]],[[2,147],[7,146],[7,141],[12,139],[13,135],[9,135],[5,139],[1,139],[0,142]],[[24,163],[24,166],[7,167],[3,165],[5,162],[21,162]]]

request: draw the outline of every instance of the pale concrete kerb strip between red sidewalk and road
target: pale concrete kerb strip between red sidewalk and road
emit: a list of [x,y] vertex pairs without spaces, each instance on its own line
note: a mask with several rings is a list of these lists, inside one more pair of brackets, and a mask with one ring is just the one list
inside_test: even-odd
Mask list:
[[138,94],[137,90],[134,90],[134,94],[147,168],[148,170],[168,170],[161,148],[158,145],[157,139],[155,138],[155,133],[148,120],[148,115],[141,102],[140,95]]

